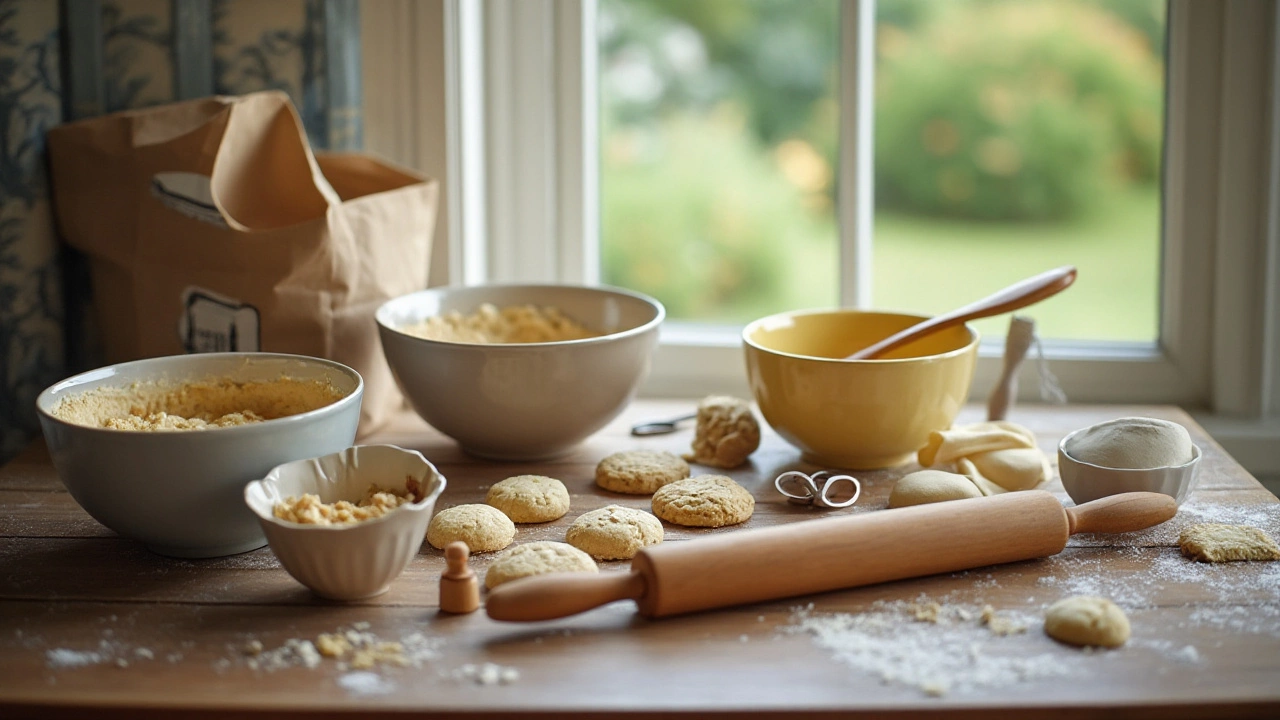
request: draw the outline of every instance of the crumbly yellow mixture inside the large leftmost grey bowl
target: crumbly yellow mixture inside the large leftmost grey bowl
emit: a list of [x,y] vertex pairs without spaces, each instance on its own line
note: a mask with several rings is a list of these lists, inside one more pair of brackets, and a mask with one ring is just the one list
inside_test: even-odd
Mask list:
[[324,380],[275,378],[234,382],[133,383],[68,396],[52,410],[60,420],[134,432],[204,430],[248,425],[317,410],[344,393]]

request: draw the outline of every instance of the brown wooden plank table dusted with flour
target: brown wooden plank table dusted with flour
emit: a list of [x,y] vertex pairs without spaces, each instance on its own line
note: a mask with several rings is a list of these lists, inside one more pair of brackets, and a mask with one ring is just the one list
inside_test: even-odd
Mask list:
[[[416,419],[371,441],[415,447],[431,459],[449,480],[438,507],[480,502],[489,484],[515,474],[563,479],[573,502],[568,516],[524,525],[516,536],[516,542],[561,541],[586,510],[611,502],[648,507],[646,497],[596,488],[594,466],[618,450],[686,450],[691,428],[664,437],[627,434],[632,421],[686,409],[636,402],[552,462],[479,461]],[[961,421],[979,413],[966,409]],[[1012,419],[1036,430],[1052,454],[1066,432],[1126,414],[1180,421],[1204,450],[1199,489],[1160,528],[1076,536],[1066,551],[1043,560],[692,616],[649,621],[620,602],[531,625],[494,623],[483,611],[438,615],[443,559],[425,544],[389,592],[355,603],[316,598],[268,548],[202,561],[152,555],[88,518],[36,443],[0,469],[0,717],[178,711],[205,717],[911,716],[942,710],[982,717],[997,710],[1052,717],[1280,716],[1280,562],[1202,565],[1176,550],[1180,528],[1197,521],[1249,521],[1280,536],[1276,498],[1176,409],[1019,406]],[[878,511],[892,482],[914,469],[860,473],[856,506],[822,511],[788,505],[774,492],[773,478],[796,468],[804,468],[797,451],[767,433],[750,464],[728,473],[754,493],[755,516],[721,530],[668,525],[667,542]],[[1059,483],[1050,489],[1066,501]],[[850,561],[858,561],[856,548]],[[483,574],[486,562],[475,557],[472,566]],[[603,571],[626,568],[602,564]],[[1043,609],[1076,593],[1107,594],[1125,609],[1133,624],[1128,646],[1085,652],[1043,634]],[[913,616],[929,602],[940,603],[941,624]],[[1027,632],[993,634],[977,619],[986,605]],[[356,671],[324,660],[315,667],[268,670],[261,661],[252,667],[244,651],[256,641],[270,653],[291,638],[365,628],[361,623],[365,632],[421,651],[419,666]],[[849,629],[840,630],[840,623]],[[915,650],[874,655],[893,652],[899,642]],[[484,684],[476,676],[484,664],[513,667],[518,679]],[[920,671],[933,684],[922,682]],[[946,692],[936,697],[922,685]]]

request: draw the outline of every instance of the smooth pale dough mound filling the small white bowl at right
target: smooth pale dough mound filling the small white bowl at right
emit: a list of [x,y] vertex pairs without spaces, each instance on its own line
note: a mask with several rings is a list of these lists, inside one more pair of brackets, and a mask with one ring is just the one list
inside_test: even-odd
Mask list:
[[1125,470],[1176,468],[1194,456],[1187,428],[1155,418],[1120,418],[1091,425],[1065,450],[1075,460]]

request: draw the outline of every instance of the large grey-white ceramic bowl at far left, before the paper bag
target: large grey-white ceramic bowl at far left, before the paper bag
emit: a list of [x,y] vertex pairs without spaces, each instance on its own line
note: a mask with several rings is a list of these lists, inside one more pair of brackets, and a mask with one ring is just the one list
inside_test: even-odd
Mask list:
[[[132,383],[326,380],[343,396],[324,407],[248,425],[133,432],[68,423],[54,409],[68,396]],[[266,544],[244,507],[244,483],[271,468],[335,452],[356,438],[360,374],[330,360],[268,352],[151,357],[100,368],[40,393],[36,406],[58,477],[108,528],[161,555],[216,557]]]

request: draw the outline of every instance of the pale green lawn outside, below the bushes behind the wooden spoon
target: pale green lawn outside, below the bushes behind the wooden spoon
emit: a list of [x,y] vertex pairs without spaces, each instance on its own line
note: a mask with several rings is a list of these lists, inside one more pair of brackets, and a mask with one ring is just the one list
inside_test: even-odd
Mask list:
[[[1069,224],[979,223],[877,213],[873,306],[937,314],[1059,265],[1079,277],[1061,295],[1021,314],[1042,337],[1155,341],[1158,323],[1160,196],[1144,190],[1114,196]],[[832,249],[796,247],[795,307],[831,305]],[[819,270],[820,269],[820,270]],[[1004,336],[1009,318],[977,323]]]

